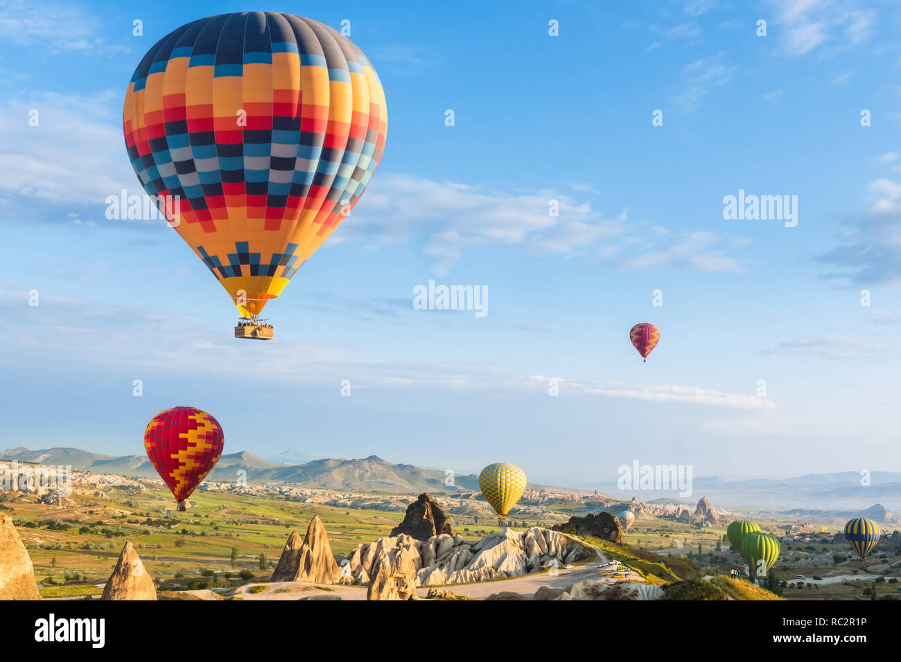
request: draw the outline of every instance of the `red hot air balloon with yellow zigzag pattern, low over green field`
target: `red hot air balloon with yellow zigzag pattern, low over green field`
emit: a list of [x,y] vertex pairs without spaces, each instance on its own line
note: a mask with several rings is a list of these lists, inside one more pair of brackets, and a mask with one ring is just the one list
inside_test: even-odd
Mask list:
[[150,463],[175,495],[178,510],[223,454],[223,429],[210,414],[173,407],[154,416],[144,431]]

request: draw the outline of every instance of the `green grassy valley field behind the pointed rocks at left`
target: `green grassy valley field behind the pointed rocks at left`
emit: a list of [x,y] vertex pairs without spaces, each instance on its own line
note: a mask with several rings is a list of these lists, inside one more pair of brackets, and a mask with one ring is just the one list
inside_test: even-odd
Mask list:
[[[253,580],[268,579],[291,531],[303,536],[314,515],[325,525],[332,552],[345,555],[359,543],[387,536],[403,519],[402,512],[309,505],[278,494],[196,492],[195,507],[168,515],[174,503],[163,487],[141,493],[114,488],[105,496],[73,494],[74,504],[59,508],[36,503],[29,494],[0,494],[0,508],[28,548],[44,597],[99,594],[94,584],[110,575],[129,540],[162,588],[203,588],[247,583],[249,573]],[[483,521],[460,526],[472,538],[497,530]]]

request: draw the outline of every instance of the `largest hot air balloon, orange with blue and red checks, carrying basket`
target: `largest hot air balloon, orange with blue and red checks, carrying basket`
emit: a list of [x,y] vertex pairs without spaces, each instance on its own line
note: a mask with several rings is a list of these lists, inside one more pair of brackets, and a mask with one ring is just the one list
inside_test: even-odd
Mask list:
[[375,69],[339,32],[242,12],[158,41],[132,76],[123,128],[141,186],[178,201],[171,224],[257,322],[369,185],[387,113]]

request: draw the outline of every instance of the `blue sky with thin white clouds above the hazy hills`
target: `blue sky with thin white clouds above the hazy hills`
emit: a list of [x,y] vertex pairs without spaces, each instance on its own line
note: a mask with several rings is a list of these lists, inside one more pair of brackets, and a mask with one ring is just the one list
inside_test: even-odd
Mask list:
[[[899,467],[898,5],[482,5],[4,2],[0,445],[140,453],[188,404],[226,452],[511,461],[557,485],[635,458]],[[350,20],[388,108],[378,173],[268,305],[271,343],[231,337],[174,231],[105,219],[106,195],[141,193],[121,116],[143,53],[247,9]],[[724,220],[739,189],[796,195],[796,227]],[[487,316],[414,310],[429,279],[486,286]],[[636,322],[660,328],[647,363]]]

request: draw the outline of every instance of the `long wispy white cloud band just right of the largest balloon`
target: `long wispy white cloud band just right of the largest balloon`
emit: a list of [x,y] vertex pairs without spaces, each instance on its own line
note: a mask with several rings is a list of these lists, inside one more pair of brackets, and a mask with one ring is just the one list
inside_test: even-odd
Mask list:
[[336,232],[338,239],[378,248],[424,237],[423,252],[439,276],[450,273],[465,251],[492,246],[522,246],[618,268],[739,268],[736,258],[722,253],[726,238],[719,234],[672,233],[633,221],[628,210],[606,216],[560,191],[508,194],[386,174],[366,195],[361,211],[355,209]]

